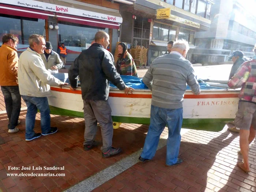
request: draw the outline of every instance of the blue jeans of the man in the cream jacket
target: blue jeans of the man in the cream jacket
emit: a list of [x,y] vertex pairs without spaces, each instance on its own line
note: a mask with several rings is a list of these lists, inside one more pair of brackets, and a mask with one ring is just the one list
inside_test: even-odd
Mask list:
[[47,97],[29,97],[26,95],[21,95],[23,100],[27,105],[26,114],[26,139],[31,139],[35,132],[35,115],[37,114],[37,109],[39,109],[41,114],[41,129],[42,133],[47,133],[50,131],[50,108],[48,104]]

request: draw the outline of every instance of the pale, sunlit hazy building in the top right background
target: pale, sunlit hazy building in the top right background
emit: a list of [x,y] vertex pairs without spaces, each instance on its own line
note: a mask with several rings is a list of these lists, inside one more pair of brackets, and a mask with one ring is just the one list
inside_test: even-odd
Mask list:
[[214,3],[210,30],[195,33],[192,61],[219,64],[228,61],[227,57],[236,50],[252,58],[256,43],[255,14],[238,0],[215,0]]

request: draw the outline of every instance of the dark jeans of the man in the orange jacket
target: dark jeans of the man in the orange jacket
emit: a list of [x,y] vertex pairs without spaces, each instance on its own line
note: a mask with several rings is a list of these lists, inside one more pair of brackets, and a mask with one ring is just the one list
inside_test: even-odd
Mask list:
[[19,86],[1,86],[4,95],[6,113],[9,119],[8,129],[14,129],[19,120],[21,97]]

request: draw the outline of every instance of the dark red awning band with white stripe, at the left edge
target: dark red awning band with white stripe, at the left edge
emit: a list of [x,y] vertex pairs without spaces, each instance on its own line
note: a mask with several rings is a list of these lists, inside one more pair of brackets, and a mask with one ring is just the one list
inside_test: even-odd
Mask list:
[[13,5],[0,5],[0,14],[15,15],[36,19],[48,19],[48,16],[54,16],[52,12],[35,10],[25,7],[18,7]]

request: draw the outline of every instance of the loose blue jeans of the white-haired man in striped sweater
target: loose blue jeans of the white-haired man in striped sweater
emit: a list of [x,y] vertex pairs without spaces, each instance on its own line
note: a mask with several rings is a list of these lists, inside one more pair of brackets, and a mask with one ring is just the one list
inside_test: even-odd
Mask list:
[[147,137],[144,143],[141,157],[152,159],[157,151],[160,135],[167,124],[168,139],[166,152],[166,165],[173,165],[177,162],[180,141],[181,141],[181,125],[183,108],[165,109],[151,105],[150,126],[148,128]]

